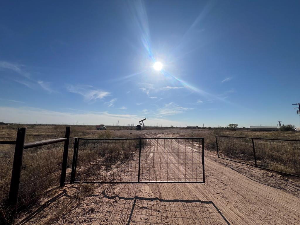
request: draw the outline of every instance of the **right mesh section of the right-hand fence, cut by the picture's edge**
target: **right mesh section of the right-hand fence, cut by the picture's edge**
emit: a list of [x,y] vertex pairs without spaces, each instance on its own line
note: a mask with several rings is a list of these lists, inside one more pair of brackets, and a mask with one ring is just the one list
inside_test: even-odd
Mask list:
[[253,140],[257,166],[300,176],[300,141]]

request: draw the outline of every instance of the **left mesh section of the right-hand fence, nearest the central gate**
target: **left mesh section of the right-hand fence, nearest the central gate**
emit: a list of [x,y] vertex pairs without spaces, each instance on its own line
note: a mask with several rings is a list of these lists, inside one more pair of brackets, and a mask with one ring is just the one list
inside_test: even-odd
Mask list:
[[220,158],[255,166],[252,138],[216,136]]

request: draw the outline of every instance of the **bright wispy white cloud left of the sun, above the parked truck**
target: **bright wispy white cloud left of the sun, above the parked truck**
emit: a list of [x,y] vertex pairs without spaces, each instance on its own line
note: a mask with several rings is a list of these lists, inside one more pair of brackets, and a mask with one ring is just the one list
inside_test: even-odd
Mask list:
[[98,98],[101,99],[110,95],[110,92],[95,89],[93,86],[90,85],[85,85],[85,86],[68,85],[67,91],[82,95],[85,101],[95,101]]

